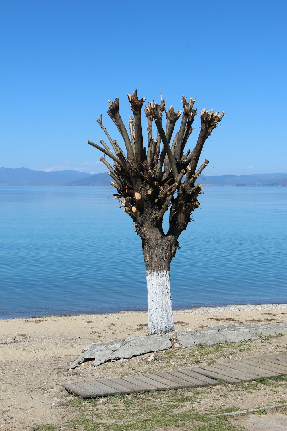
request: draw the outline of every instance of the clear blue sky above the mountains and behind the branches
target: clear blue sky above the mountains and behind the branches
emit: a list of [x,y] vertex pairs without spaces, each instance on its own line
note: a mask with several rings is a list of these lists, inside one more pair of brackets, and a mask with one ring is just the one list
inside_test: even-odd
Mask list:
[[2,0],[0,166],[103,172],[86,141],[101,113],[118,137],[108,99],[128,125],[126,94],[161,89],[225,111],[205,173],[287,172],[286,16],[286,0]]

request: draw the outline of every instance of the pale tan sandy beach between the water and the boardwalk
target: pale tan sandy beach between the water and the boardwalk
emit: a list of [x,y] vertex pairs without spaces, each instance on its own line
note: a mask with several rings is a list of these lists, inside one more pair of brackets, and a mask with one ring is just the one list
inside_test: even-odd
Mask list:
[[[174,321],[176,329],[187,330],[226,322],[287,322],[287,304],[174,310]],[[0,429],[28,430],[37,424],[61,426],[68,422],[73,413],[65,408],[67,397],[60,392],[61,383],[160,369],[164,360],[149,363],[142,356],[96,368],[93,362],[85,362],[67,371],[84,346],[145,335],[146,331],[147,312],[141,311],[0,320]],[[242,351],[241,357],[276,353],[279,348],[275,346],[286,346],[286,338],[276,339],[276,344],[258,344],[254,352]],[[237,354],[231,356],[236,359]],[[180,357],[164,366],[180,367]]]

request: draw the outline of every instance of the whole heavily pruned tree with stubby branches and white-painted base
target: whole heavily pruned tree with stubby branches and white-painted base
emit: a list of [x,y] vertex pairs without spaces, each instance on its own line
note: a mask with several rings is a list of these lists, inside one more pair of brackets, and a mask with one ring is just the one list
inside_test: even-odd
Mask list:
[[[198,195],[202,184],[195,184],[208,160],[197,168],[204,142],[224,112],[213,109],[201,111],[201,127],[198,140],[192,151],[185,145],[193,130],[197,114],[192,98],[182,96],[183,110],[168,110],[165,100],[160,104],[147,103],[144,108],[147,118],[148,139],[142,134],[142,106],[145,98],[138,99],[136,91],[128,94],[134,116],[129,119],[129,132],[119,113],[119,99],[109,100],[108,115],[120,132],[126,147],[124,152],[112,139],[103,125],[102,116],[97,120],[105,132],[109,144],[101,145],[88,141],[89,145],[104,153],[101,161],[107,166],[112,178],[111,185],[117,189],[114,198],[132,218],[136,233],[142,239],[148,286],[148,334],[174,331],[172,301],[170,294],[170,263],[179,248],[178,237],[191,221],[191,213],[200,206]],[[162,118],[167,117],[166,131]],[[180,116],[179,130],[173,141],[173,132]],[[156,126],[154,128],[154,125]],[[171,144],[172,142],[172,144]],[[111,164],[107,158],[111,160]],[[163,230],[163,217],[169,211],[169,228]]]

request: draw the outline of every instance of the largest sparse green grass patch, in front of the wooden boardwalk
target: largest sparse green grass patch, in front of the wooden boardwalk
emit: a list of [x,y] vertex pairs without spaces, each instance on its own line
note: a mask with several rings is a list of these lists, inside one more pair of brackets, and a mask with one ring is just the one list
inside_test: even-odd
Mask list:
[[[209,390],[210,391],[210,390]],[[234,426],[199,414],[193,408],[206,392],[190,389],[116,395],[76,403],[78,417],[67,431],[150,431],[180,428],[193,431],[236,431]],[[135,396],[136,395],[136,396]]]

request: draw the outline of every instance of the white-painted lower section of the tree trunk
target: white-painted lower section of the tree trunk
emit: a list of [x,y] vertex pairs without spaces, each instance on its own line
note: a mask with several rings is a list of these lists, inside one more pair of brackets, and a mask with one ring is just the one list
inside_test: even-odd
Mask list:
[[174,331],[170,272],[146,270],[148,284],[148,334]]

